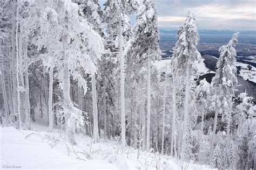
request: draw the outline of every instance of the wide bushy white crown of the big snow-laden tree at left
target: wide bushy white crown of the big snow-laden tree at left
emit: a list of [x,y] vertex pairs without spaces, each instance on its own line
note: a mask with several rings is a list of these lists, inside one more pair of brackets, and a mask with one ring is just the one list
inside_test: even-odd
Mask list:
[[[82,73],[95,73],[96,61],[103,52],[103,39],[84,19],[78,4],[71,0],[34,0],[29,9],[29,17],[23,19],[21,27],[24,34],[31,36],[31,43],[47,50],[42,55],[45,67],[58,67],[59,80],[62,82],[63,63],[69,63],[73,79],[83,84]],[[66,55],[63,59],[63,36],[66,36]],[[82,69],[82,70],[81,70]]]

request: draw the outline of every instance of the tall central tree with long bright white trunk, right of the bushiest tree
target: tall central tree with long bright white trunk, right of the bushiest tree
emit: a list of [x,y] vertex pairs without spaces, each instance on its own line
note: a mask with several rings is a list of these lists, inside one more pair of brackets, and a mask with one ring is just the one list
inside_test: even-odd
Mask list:
[[[120,73],[120,110],[121,110],[121,129],[122,129],[122,147],[125,146],[125,58],[128,59],[124,53],[124,48],[127,45],[127,41],[131,39],[131,24],[129,13],[131,10],[131,2],[108,0],[105,3],[105,22],[107,24],[106,34],[106,53],[103,56],[103,69],[106,67],[115,67],[111,69],[110,75]],[[120,70],[120,71],[119,71]],[[113,79],[110,75],[104,73],[105,79],[108,79],[113,84],[118,84],[117,79]],[[117,76],[117,75],[116,75]],[[118,85],[119,86],[119,85]],[[114,98],[119,96],[113,96]],[[118,100],[118,98],[116,98]]]

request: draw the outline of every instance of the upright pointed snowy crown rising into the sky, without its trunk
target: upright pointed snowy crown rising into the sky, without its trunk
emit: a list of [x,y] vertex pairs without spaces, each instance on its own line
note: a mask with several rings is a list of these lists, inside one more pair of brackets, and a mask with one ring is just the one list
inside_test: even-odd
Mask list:
[[200,53],[197,51],[199,42],[199,34],[194,14],[188,11],[187,18],[183,26],[178,30],[178,41],[173,48],[173,57],[177,60],[177,66],[183,73],[183,68],[192,65],[193,61],[200,60]]

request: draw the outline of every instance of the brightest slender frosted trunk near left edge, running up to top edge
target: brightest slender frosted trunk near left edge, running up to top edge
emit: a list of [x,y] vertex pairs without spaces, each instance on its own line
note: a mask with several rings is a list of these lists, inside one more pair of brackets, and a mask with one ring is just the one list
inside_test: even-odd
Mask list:
[[19,99],[19,57],[18,57],[18,4],[17,0],[13,1],[12,9],[12,32],[11,32],[11,46],[12,46],[12,81],[14,90],[14,114],[17,116],[17,129],[21,128],[21,112]]

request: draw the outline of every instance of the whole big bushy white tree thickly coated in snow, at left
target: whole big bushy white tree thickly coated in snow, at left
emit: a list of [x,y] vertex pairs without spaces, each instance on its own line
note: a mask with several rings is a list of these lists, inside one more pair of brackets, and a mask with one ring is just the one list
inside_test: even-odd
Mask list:
[[[83,72],[95,74],[96,58],[102,50],[102,38],[83,18],[77,4],[70,0],[39,1],[35,13],[30,13],[27,26],[38,29],[38,40],[32,41],[38,48],[48,49],[48,58],[42,57],[48,67],[56,66],[58,80],[63,90],[63,112],[68,127],[69,140],[75,144],[75,128],[83,124],[82,112],[75,108],[70,98],[70,75],[86,93],[87,84]],[[33,32],[32,32],[33,33]],[[37,36],[37,35],[36,35]]]

